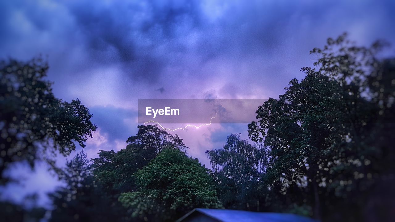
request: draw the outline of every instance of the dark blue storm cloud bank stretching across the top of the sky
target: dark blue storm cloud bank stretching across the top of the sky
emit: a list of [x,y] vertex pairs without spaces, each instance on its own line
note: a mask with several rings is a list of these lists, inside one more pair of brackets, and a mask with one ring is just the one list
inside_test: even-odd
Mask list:
[[[377,9],[381,16],[394,18],[391,13],[383,15],[384,9],[393,6],[390,1],[361,4],[251,1],[246,4],[244,1],[65,0],[39,3],[1,3],[3,13],[0,16],[12,18],[0,21],[3,33],[10,34],[2,37],[1,44],[18,40],[30,42],[30,51],[48,53],[50,58],[56,57],[57,64],[70,64],[69,67],[76,70],[116,64],[132,81],[149,84],[168,81],[167,67],[178,67],[180,73],[191,76],[216,74],[201,73],[201,67],[214,58],[238,62],[257,55],[275,60],[284,67],[291,66],[292,62],[300,60],[294,55],[301,51],[307,54],[313,46],[319,46],[314,41],[322,44],[324,38],[347,31],[348,25],[371,16],[373,11],[369,10]],[[28,21],[19,18],[18,13]],[[388,12],[384,10],[384,13]],[[24,22],[32,23],[35,32],[31,35],[21,33],[26,26]],[[322,32],[320,27],[324,25],[325,32]],[[393,34],[387,28],[380,30]],[[314,36],[311,44],[303,41],[309,36]],[[44,47],[37,43],[43,38],[47,38]],[[31,43],[36,44],[36,48]],[[54,47],[58,45],[63,48],[56,51]],[[67,55],[78,47],[82,48],[79,54]],[[29,49],[21,50],[17,56],[27,54],[26,51]],[[13,53],[15,55],[5,50],[7,56]],[[269,67],[273,61],[269,61],[269,64],[262,62],[267,70],[254,70],[250,75],[274,71]],[[58,72],[64,75],[62,70]],[[77,73],[75,70],[63,72]]]

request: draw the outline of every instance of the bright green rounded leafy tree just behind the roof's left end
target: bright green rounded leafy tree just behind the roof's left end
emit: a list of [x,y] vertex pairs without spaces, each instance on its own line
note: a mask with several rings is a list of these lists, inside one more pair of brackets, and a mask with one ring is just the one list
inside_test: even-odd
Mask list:
[[164,149],[135,177],[138,191],[119,198],[135,218],[171,221],[196,207],[222,207],[207,169],[179,150]]

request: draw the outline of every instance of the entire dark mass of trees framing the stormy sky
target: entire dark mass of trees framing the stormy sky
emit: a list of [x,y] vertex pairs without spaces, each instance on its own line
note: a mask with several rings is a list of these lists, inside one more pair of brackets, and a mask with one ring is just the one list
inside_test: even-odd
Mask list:
[[[315,68],[302,68],[304,79],[258,107],[248,124],[253,143],[231,134],[222,148],[206,151],[213,170],[156,125],[137,126],[118,152],[100,150],[92,160],[78,152],[66,167],[54,167],[64,186],[49,194],[50,220],[173,221],[201,207],[389,221],[395,58],[380,56],[384,45],[359,47],[344,34],[313,49]],[[55,98],[47,68],[40,59],[0,64],[1,183],[9,182],[3,171],[13,162],[33,166],[41,149],[68,155],[96,130],[81,101]],[[0,205],[6,220],[45,214]]]

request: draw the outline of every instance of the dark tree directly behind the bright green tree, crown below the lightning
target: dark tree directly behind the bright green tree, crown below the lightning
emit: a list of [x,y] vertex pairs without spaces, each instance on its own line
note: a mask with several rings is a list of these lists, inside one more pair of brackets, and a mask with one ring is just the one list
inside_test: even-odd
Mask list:
[[126,209],[118,198],[122,192],[136,190],[133,174],[146,166],[165,148],[186,150],[178,135],[171,135],[156,125],[138,126],[135,136],[129,137],[128,145],[118,152],[98,152],[99,157],[93,159],[94,176],[102,197],[107,200],[112,220],[127,218]]

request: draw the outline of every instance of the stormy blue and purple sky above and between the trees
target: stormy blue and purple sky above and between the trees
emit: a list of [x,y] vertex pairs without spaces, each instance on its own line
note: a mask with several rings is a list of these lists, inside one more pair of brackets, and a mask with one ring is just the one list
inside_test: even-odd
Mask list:
[[[55,95],[79,98],[94,115],[92,158],[137,132],[139,98],[277,98],[328,37],[394,41],[393,9],[389,0],[1,1],[0,58],[48,60]],[[177,134],[209,165],[206,150],[246,132],[246,124],[216,124]],[[57,184],[45,167],[31,174],[7,198]]]

